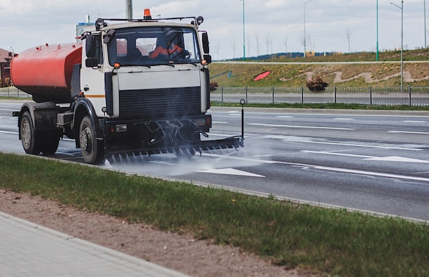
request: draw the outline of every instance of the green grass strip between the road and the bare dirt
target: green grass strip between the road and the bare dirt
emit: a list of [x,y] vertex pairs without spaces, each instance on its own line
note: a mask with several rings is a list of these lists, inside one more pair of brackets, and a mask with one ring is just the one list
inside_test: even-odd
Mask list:
[[0,153],[0,186],[161,230],[234,245],[287,268],[340,276],[428,276],[429,227]]

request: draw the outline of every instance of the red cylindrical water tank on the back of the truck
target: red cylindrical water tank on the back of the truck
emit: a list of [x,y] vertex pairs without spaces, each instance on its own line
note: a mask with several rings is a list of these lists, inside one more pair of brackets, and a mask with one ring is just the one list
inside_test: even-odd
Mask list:
[[71,101],[71,75],[81,64],[82,43],[42,45],[14,56],[10,73],[14,86],[33,95],[34,101]]

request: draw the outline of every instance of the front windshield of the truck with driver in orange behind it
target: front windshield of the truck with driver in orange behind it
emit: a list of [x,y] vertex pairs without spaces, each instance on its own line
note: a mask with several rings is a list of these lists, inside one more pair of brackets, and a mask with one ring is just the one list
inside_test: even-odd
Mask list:
[[109,63],[121,66],[199,63],[197,33],[188,27],[116,29],[108,43]]

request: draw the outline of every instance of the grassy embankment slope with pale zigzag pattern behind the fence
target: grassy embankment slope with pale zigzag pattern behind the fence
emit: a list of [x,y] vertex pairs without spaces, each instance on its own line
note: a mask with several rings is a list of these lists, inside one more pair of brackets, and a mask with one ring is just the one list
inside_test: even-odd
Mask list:
[[[305,86],[306,80],[322,77],[330,86],[400,86],[400,62],[368,64],[275,64],[275,63],[214,63],[210,64],[210,82],[219,86]],[[254,81],[260,73],[270,71],[267,77]],[[228,74],[226,74],[228,73]],[[403,64],[405,86],[429,86],[429,62]]]

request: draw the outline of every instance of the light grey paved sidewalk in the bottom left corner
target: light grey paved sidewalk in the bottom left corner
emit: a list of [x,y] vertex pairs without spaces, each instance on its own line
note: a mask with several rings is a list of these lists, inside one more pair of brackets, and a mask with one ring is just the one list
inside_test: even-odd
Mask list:
[[0,212],[0,276],[186,276]]

